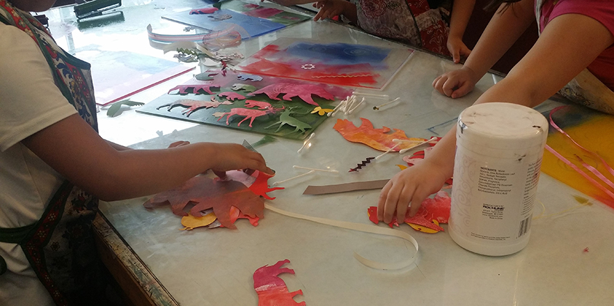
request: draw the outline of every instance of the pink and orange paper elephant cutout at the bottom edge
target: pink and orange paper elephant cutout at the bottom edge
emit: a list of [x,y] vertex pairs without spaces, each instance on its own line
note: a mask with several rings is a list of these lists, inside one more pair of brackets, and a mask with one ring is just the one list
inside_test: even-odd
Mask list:
[[253,273],[253,289],[258,293],[258,306],[305,306],[305,302],[297,303],[293,298],[303,294],[302,290],[288,291],[288,286],[278,277],[281,273],[294,274],[291,268],[281,268],[290,260],[277,261],[273,266],[262,266]]

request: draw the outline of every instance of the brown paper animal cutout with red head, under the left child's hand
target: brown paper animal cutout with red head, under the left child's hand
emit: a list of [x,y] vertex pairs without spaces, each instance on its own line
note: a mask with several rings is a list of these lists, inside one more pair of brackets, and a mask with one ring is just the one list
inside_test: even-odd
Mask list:
[[235,229],[233,222],[236,218],[233,220],[233,216],[230,215],[232,207],[239,209],[241,214],[250,218],[262,218],[265,203],[260,196],[272,200],[274,198],[269,197],[267,193],[283,189],[267,186],[271,175],[255,171],[252,176],[255,176],[256,179],[251,186],[247,187],[235,180],[210,179],[200,175],[189,179],[182,186],[158,193],[143,203],[143,206],[154,208],[170,204],[173,214],[188,216],[184,209],[187,204],[194,204],[194,207],[189,209],[191,216],[200,217],[202,216],[201,211],[213,209],[213,214],[217,216],[221,225]]

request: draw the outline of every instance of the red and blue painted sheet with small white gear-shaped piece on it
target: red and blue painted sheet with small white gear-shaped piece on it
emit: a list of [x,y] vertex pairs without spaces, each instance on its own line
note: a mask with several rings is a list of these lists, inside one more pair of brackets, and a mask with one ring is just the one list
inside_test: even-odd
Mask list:
[[246,58],[246,73],[383,89],[413,53],[411,49],[280,38]]

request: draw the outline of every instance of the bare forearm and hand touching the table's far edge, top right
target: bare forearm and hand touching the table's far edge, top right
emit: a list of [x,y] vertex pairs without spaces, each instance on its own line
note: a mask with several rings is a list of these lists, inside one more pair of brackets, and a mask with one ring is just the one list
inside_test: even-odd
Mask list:
[[461,56],[467,57],[471,54],[471,50],[463,42],[463,35],[465,29],[467,29],[474,5],[475,0],[454,0],[452,5],[450,34],[448,35],[447,45],[454,63],[459,63]]

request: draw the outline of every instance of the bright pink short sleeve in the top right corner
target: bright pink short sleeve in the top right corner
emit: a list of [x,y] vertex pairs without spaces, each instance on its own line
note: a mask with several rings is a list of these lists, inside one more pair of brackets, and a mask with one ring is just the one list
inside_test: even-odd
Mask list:
[[564,14],[581,14],[601,22],[614,35],[614,1],[560,0],[550,13],[550,20]]

